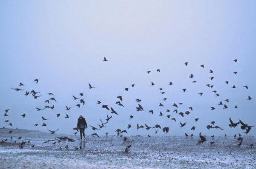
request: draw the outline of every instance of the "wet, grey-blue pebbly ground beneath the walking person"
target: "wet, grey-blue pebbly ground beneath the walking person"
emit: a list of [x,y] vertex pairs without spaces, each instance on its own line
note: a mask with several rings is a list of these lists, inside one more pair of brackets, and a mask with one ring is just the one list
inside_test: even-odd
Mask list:
[[[127,141],[117,136],[87,136],[85,143],[78,136],[75,142],[43,143],[55,136],[33,130],[0,129],[0,168],[248,168],[256,169],[256,139],[243,136],[242,145],[233,137],[207,136],[196,144],[198,136],[130,136]],[[13,136],[12,140],[10,136]],[[15,144],[14,141],[22,138]],[[18,143],[29,141],[23,149]],[[214,141],[213,145],[209,142]],[[248,146],[254,144],[252,147]],[[125,146],[132,144],[128,153]],[[32,148],[32,145],[34,147]],[[65,149],[65,146],[69,149]],[[75,150],[81,146],[82,149]],[[59,150],[59,148],[62,150]]]

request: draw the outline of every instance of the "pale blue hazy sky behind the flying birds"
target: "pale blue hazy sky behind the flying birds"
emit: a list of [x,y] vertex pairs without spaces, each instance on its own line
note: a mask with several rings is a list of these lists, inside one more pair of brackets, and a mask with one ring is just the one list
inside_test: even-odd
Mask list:
[[[136,124],[160,124],[170,127],[169,135],[234,135],[244,130],[228,127],[229,117],[255,125],[256,1],[11,1],[0,2],[0,126],[72,134],[77,118],[96,126],[99,119],[111,115],[96,101],[114,107],[103,130],[115,134],[117,128],[132,127],[129,135],[150,134],[154,130],[137,130]],[[103,57],[109,59],[103,62]],[[237,63],[233,59],[239,59]],[[183,63],[189,62],[186,67]],[[200,65],[204,64],[205,68]],[[160,68],[160,73],[156,69]],[[209,69],[214,73],[210,74]],[[147,74],[147,70],[152,70]],[[234,71],[238,71],[236,75]],[[193,73],[194,78],[189,75]],[[211,81],[209,77],[215,78]],[[38,84],[33,82],[39,79]],[[192,84],[192,80],[197,83]],[[228,80],[229,85],[224,81]],[[33,99],[24,91],[11,87],[41,91]],[[154,82],[154,86],[150,86]],[[173,82],[173,85],[168,85]],[[88,89],[88,83],[95,86]],[[131,88],[131,84],[135,87]],[[215,85],[212,89],[206,84]],[[236,85],[236,89],[231,89]],[[248,85],[246,90],[243,85]],[[129,87],[129,91],[124,91]],[[165,94],[160,94],[162,87]],[[183,93],[182,89],[187,88]],[[216,97],[212,90],[217,90]],[[58,101],[55,109],[44,107],[52,92]],[[79,109],[72,95],[84,93],[86,104]],[[198,93],[203,92],[203,96]],[[115,104],[123,96],[125,107]],[[253,99],[248,101],[247,97]],[[163,98],[168,98],[163,101]],[[142,99],[144,112],[137,112],[135,99]],[[219,101],[229,99],[228,109]],[[159,107],[159,102],[165,107]],[[193,111],[185,117],[173,113],[173,103],[183,102],[178,111]],[[65,105],[71,106],[70,111]],[[233,107],[237,105],[238,109]],[[216,110],[210,110],[213,106]],[[9,116],[3,117],[4,110]],[[166,113],[166,109],[171,112]],[[154,110],[154,115],[148,113]],[[177,122],[165,115],[175,117]],[[26,113],[26,117],[20,115]],[[59,118],[56,114],[61,113]],[[70,118],[64,118],[65,114]],[[133,119],[129,119],[134,115]],[[49,119],[41,121],[41,116]],[[194,118],[200,118],[195,122]],[[207,130],[214,120],[224,130]],[[105,121],[105,120],[104,120]],[[179,127],[179,121],[186,122]],[[47,123],[47,127],[35,127]],[[196,126],[195,131],[190,128]],[[256,127],[250,135],[256,135]],[[94,131],[86,130],[86,134]],[[165,134],[158,131],[158,134]]]

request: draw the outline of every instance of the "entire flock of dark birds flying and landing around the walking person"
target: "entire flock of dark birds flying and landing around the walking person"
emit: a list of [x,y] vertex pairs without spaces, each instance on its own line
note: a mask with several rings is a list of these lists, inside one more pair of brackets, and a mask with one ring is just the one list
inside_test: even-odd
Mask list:
[[[105,57],[104,57],[104,60],[103,60],[104,62],[106,62],[106,61],[108,61],[108,59],[106,59]],[[235,63],[236,62],[238,62],[238,60],[237,59],[234,59],[233,60]],[[185,62],[184,63],[185,64],[185,66],[188,66],[188,64],[189,64],[189,62]],[[200,65],[201,66],[201,68],[204,68],[204,65]],[[160,69],[157,69],[156,70],[157,72],[160,72]],[[213,70],[209,70],[209,73],[210,74],[212,74],[214,71]],[[149,74],[149,73],[151,73],[151,70],[149,70],[149,71],[146,71],[146,73],[147,74]],[[234,73],[234,75],[236,75],[238,72],[237,71],[235,71],[235,72],[233,72]],[[194,75],[193,74],[190,74],[190,76],[189,76],[189,78],[191,78],[191,79],[193,79],[194,78]],[[209,79],[212,81],[213,79],[214,79],[214,76],[212,76],[212,77],[209,77]],[[37,84],[38,82],[39,82],[39,80],[38,79],[35,79],[34,80],[34,82]],[[193,80],[192,81],[192,83],[196,83],[196,81],[195,80]],[[224,82],[225,84],[227,84],[227,85],[229,85],[229,81],[225,81]],[[154,82],[151,82],[151,86],[154,86],[155,84],[154,84]],[[169,85],[173,85],[173,83],[172,82],[169,82]],[[20,84],[19,84],[19,86],[20,87],[24,87],[25,85],[23,84],[23,83],[21,83],[20,82]],[[95,88],[95,86],[93,86],[93,85],[91,85],[90,83],[88,84],[88,88],[89,89],[93,89],[93,88]],[[207,84],[206,85],[207,87],[209,87],[209,88],[213,88],[214,87],[214,85],[211,85],[211,84]],[[131,84],[131,87],[135,87],[135,84]],[[246,90],[248,89],[248,86],[247,85],[244,85],[243,86]],[[232,87],[231,87],[232,89],[234,89],[234,88],[236,88],[236,85],[233,85]],[[20,88],[11,88],[12,90],[16,90],[16,91],[23,91],[24,89],[20,89]],[[124,88],[124,90],[125,91],[129,91],[129,87],[126,87],[126,88]],[[158,90],[160,90],[160,93],[161,94],[164,94],[165,92],[163,91],[163,88],[159,88]],[[184,88],[184,89],[181,89],[183,92],[186,92],[186,88]],[[216,90],[213,90],[212,91],[212,93],[215,93],[215,96],[220,96],[218,93],[217,93],[217,91]],[[198,95],[199,96],[202,96],[204,93],[198,93]],[[31,90],[31,91],[26,91],[25,92],[25,96],[29,96],[29,95],[31,95],[34,99],[38,99],[38,98],[40,98],[41,96],[42,96],[42,94],[41,94],[41,92],[38,92],[38,91],[35,91],[35,90]],[[55,99],[55,95],[53,94],[53,93],[47,93],[47,96],[49,96],[49,99],[47,99],[47,100],[45,100],[44,101],[44,103],[45,104],[47,104],[47,105],[45,105],[44,107],[35,107],[35,110],[36,111],[43,111],[44,109],[54,109],[55,107],[54,107],[54,105],[52,105],[52,106],[50,106],[49,104],[50,103],[57,103],[57,100]],[[72,96],[72,98],[74,99],[74,100],[77,100],[77,104],[75,105],[76,107],[78,107],[78,108],[80,108],[81,106],[84,106],[84,104],[85,104],[85,101],[84,101],[84,99],[82,98],[84,96],[84,93],[79,93],[77,96]],[[120,107],[124,107],[124,105],[122,104],[122,101],[123,101],[123,96],[116,96],[116,98],[118,99],[118,101],[116,101],[116,105],[117,106],[120,106]],[[250,101],[252,98],[251,98],[251,96],[248,96],[248,98],[247,98],[247,100],[248,101]],[[163,101],[166,101],[167,100],[167,98],[163,98]],[[140,102],[141,102],[141,99],[136,99],[135,100],[136,102],[137,102],[137,106],[135,107],[136,109],[136,111],[145,111],[145,109],[143,108],[143,106],[140,104]],[[224,101],[220,101],[219,103],[218,103],[218,105],[220,105],[220,106],[223,106],[223,109],[227,109],[228,108],[228,106],[227,106],[227,103],[229,102],[229,99],[225,99]],[[111,114],[113,114],[113,115],[118,115],[119,113],[117,113],[116,112],[116,110],[114,110],[114,108],[112,107],[112,106],[108,106],[108,105],[106,105],[106,104],[103,104],[102,103],[102,101],[97,101],[97,104],[99,104],[103,109],[105,109],[107,112],[109,112],[109,113],[111,113]],[[173,103],[172,104],[172,106],[174,107],[174,109],[175,110],[173,110],[173,112],[174,113],[177,113],[178,115],[180,115],[181,117],[184,117],[185,115],[189,115],[190,113],[191,113],[191,111],[193,111],[193,107],[191,106],[191,107],[188,107],[188,110],[186,111],[186,112],[179,112],[178,111],[178,108],[179,108],[179,106],[180,105],[182,105],[183,103]],[[159,107],[164,107],[164,104],[162,103],[162,102],[160,102],[159,104],[158,104],[158,106]],[[210,108],[210,110],[215,110],[215,107],[209,107]],[[235,105],[235,107],[233,107],[233,108],[238,108],[238,106],[237,105]],[[65,106],[65,110],[68,112],[69,110],[71,109],[71,107],[69,107],[69,106]],[[153,110],[147,110],[148,111],[148,113],[151,113],[151,114],[153,114],[154,113],[154,111]],[[169,110],[169,109],[166,109],[166,113],[169,113],[169,112],[171,112],[172,110]],[[9,115],[8,115],[8,112],[9,112],[9,109],[6,109],[5,110],[5,113],[4,113],[4,117],[8,117]],[[58,118],[59,116],[61,115],[61,113],[58,113],[58,114],[56,114],[56,118]],[[173,120],[173,121],[175,121],[176,122],[176,118],[172,118],[171,116],[172,115],[164,115],[161,111],[160,111],[160,113],[159,113],[159,116],[166,116],[167,118],[171,118],[171,120]],[[24,113],[24,114],[22,114],[21,115],[21,117],[22,118],[25,118],[26,117],[26,114]],[[66,114],[65,115],[65,118],[69,118],[70,116],[68,115],[68,114]],[[99,124],[96,124],[97,125],[97,127],[95,127],[95,126],[92,126],[92,125],[89,125],[90,127],[91,127],[91,129],[93,130],[93,131],[97,131],[97,130],[101,130],[102,128],[105,128],[105,127],[107,127],[106,126],[106,124],[108,124],[108,122],[111,120],[111,118],[112,118],[112,115],[111,116],[109,116],[109,115],[107,115],[106,116],[106,118],[105,118],[105,121],[103,122],[102,121],[102,119],[100,119],[99,121],[100,121],[100,123]],[[129,117],[130,119],[132,119],[132,118],[134,118],[134,116],[133,115],[130,115],[130,117]],[[42,119],[42,121],[47,121],[48,119],[47,118],[45,118],[45,117],[41,117],[41,119]],[[199,120],[199,118],[195,118],[194,119],[195,120],[195,122],[197,122],[198,120]],[[248,125],[248,124],[245,124],[243,121],[241,121],[241,120],[239,120],[238,122],[233,122],[232,121],[232,119],[231,118],[229,118],[229,121],[230,121],[230,124],[228,124],[228,126],[229,127],[237,127],[239,124],[241,124],[241,129],[242,130],[244,130],[245,132],[244,133],[249,133],[250,132],[250,130],[251,130],[251,128],[252,127],[254,127],[254,126],[252,126],[252,125]],[[5,122],[6,123],[8,123],[10,126],[12,126],[12,122],[10,122],[9,120],[5,120]],[[180,124],[180,127],[184,127],[185,125],[186,125],[186,122],[179,122],[179,124]],[[38,126],[39,124],[34,124],[34,126]],[[43,122],[42,124],[41,124],[41,126],[47,126],[47,123],[46,122]],[[140,130],[140,129],[144,129],[144,127],[145,127],[145,129],[146,130],[151,130],[151,129],[154,129],[154,132],[155,132],[155,134],[157,134],[157,132],[158,132],[158,130],[162,130],[163,132],[166,132],[166,133],[168,133],[169,132],[169,127],[161,127],[159,124],[155,124],[154,126],[149,126],[149,125],[147,125],[147,124],[145,124],[145,126],[144,125],[140,125],[140,124],[137,124],[137,130]],[[4,127],[3,127],[4,128]],[[115,130],[115,132],[117,133],[117,135],[118,136],[120,136],[120,137],[122,137],[123,136],[123,134],[124,133],[128,133],[128,130],[131,128],[131,124],[127,124],[127,128],[126,129],[116,129]],[[196,126],[192,126],[191,127],[191,129],[190,130],[195,130],[195,128],[196,128]],[[210,130],[210,129],[219,129],[219,130],[224,130],[222,127],[219,127],[219,126],[217,126],[217,125],[215,125],[215,121],[212,121],[209,125],[207,125],[207,127],[206,127],[208,130]],[[47,129],[48,130],[48,129]],[[58,129],[59,130],[59,129]],[[51,132],[52,134],[54,134],[56,131],[58,131],[58,130],[48,130],[49,132]],[[77,132],[79,132],[79,130],[78,130],[78,128],[77,127],[74,127],[73,128],[73,130],[76,130],[76,132],[74,132],[74,134],[77,134]],[[12,131],[10,131],[9,132],[10,134],[12,133]],[[92,133],[91,135],[94,135],[94,136],[96,136],[96,137],[99,137],[99,135],[95,132],[95,133]],[[108,132],[106,132],[105,133],[105,135],[108,135]],[[185,136],[186,137],[189,137],[189,135],[188,134],[186,134],[185,133]],[[225,135],[225,137],[226,137],[227,135]],[[150,137],[150,135],[148,135],[148,137]],[[191,134],[190,135],[190,137],[193,137],[193,134]],[[206,136],[204,136],[204,135],[201,135],[201,132],[199,133],[199,137],[200,137],[200,140],[198,141],[198,144],[202,144],[202,143],[204,143],[207,139],[206,139]],[[212,138],[214,137],[214,135],[212,135],[211,136]],[[234,137],[236,137],[236,135],[234,135]],[[22,137],[19,137],[18,138],[18,140],[20,140]],[[12,139],[12,136],[11,136],[11,139]],[[124,139],[124,141],[126,141],[127,139],[128,139],[128,137],[123,137],[123,139]],[[6,141],[7,141],[8,139],[6,138],[5,140],[2,140],[0,143],[1,144],[3,144],[3,143],[5,143]],[[240,143],[238,144],[238,146],[240,146],[241,145],[241,143],[242,143],[242,140],[243,140],[243,138],[241,137],[241,134],[239,134],[239,138],[237,139],[238,141],[240,141]],[[49,141],[53,141],[53,143],[52,144],[56,144],[56,142],[58,141],[58,143],[60,143],[61,141],[71,141],[71,142],[73,142],[74,140],[72,139],[72,138],[68,138],[68,137],[57,137],[57,138],[55,138],[55,139],[52,139],[52,140],[47,140],[47,141],[45,141],[44,143],[47,143],[47,142],[49,142]],[[16,141],[15,141],[15,143],[16,143]],[[20,147],[22,148],[23,147],[23,145],[24,144],[26,144],[26,143],[29,143],[29,141],[22,141],[22,143],[20,143]],[[210,142],[210,144],[214,144],[214,142],[213,141],[211,141]],[[250,144],[250,146],[253,146],[253,144]],[[68,149],[68,146],[66,146],[65,147],[66,149]],[[131,148],[131,145],[129,145],[129,146],[126,146],[125,147],[125,152],[128,152],[128,149],[130,149]],[[61,149],[61,147],[60,147],[60,149]],[[75,147],[75,149],[78,149],[78,147]],[[80,147],[80,149],[81,149],[81,147]]]

